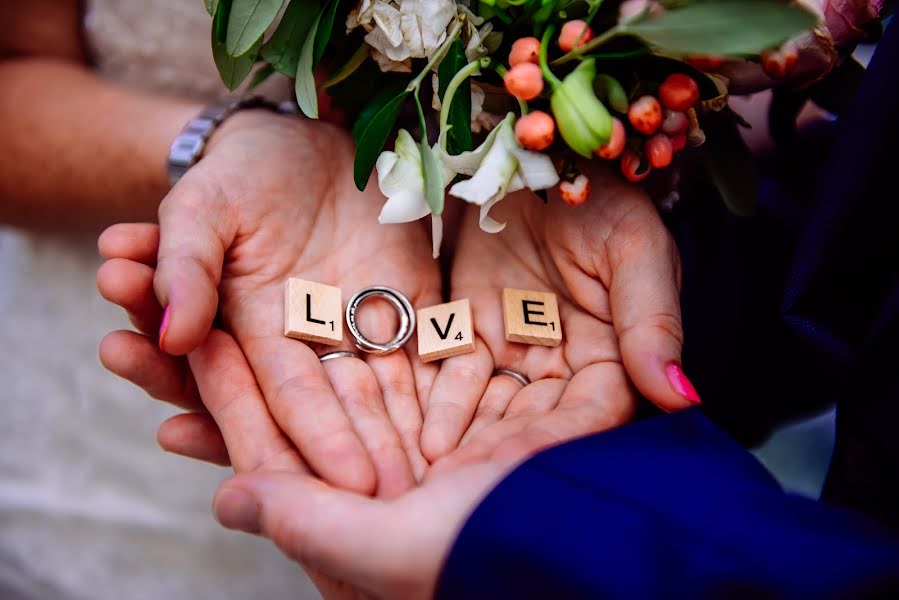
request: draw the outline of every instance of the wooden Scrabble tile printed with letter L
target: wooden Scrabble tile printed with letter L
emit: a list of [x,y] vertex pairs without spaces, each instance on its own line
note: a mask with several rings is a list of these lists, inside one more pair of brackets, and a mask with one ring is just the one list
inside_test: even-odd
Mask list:
[[343,341],[340,288],[288,279],[284,290],[284,335],[328,346]]

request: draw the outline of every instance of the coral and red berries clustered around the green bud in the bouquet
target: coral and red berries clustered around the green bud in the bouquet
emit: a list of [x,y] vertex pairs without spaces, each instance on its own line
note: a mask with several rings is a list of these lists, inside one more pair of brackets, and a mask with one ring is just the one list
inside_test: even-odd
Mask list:
[[[570,52],[593,37],[587,23],[573,20],[562,27],[557,43],[563,52]],[[541,42],[535,37],[520,38],[512,45],[510,68],[503,80],[506,90],[521,101],[535,100],[543,93],[546,81],[540,51]],[[658,86],[657,95],[633,99],[608,75],[599,75],[597,85],[605,89],[606,104],[617,114],[611,116],[608,140],[593,154],[619,161],[629,181],[642,181],[652,169],[669,166],[674,154],[687,145],[688,133],[698,127],[694,105],[699,101],[699,87],[688,75],[672,73]],[[532,110],[518,119],[515,136],[524,148],[542,151],[553,144],[556,127],[553,116]],[[590,184],[585,176],[578,175],[563,181],[560,191],[566,202],[578,205],[589,196]]]

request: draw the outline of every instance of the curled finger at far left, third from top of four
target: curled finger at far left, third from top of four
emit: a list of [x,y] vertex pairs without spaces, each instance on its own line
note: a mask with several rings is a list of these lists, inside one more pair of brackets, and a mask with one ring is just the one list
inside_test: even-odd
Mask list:
[[189,411],[205,410],[184,359],[160,351],[147,336],[113,331],[100,342],[100,362],[153,398]]

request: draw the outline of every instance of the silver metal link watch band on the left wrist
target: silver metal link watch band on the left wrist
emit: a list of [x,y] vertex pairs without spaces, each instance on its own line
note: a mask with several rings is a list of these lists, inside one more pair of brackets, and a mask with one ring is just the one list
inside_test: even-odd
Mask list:
[[175,185],[179,179],[194,166],[203,155],[206,142],[222,122],[243,108],[269,108],[278,110],[274,104],[251,96],[240,98],[228,96],[206,106],[196,117],[191,119],[169,147],[166,170],[169,183]]

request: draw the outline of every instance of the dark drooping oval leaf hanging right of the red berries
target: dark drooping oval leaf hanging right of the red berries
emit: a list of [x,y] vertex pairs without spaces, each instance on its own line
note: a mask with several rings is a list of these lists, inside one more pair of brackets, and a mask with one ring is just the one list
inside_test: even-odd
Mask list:
[[710,112],[701,125],[706,134],[701,150],[712,183],[732,213],[751,216],[756,209],[759,175],[736,122],[727,115]]

